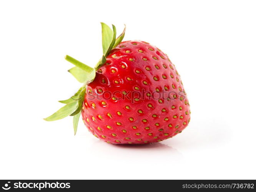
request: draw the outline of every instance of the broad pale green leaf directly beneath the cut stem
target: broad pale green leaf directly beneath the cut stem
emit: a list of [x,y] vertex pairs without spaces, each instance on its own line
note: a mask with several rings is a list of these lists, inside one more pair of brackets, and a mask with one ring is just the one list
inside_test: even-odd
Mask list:
[[93,70],[91,73],[87,73],[79,67],[73,67],[68,70],[68,72],[71,73],[80,83],[88,83],[93,81],[96,75],[95,70]]

